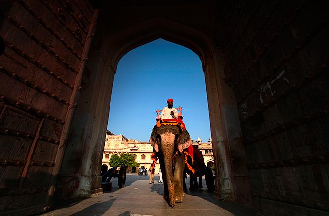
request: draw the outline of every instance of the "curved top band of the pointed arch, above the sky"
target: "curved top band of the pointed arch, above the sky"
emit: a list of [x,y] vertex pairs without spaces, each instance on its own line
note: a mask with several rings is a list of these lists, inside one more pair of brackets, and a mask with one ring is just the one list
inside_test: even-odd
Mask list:
[[192,50],[200,58],[202,66],[211,53],[211,41],[203,32],[156,17],[115,33],[108,41],[115,47],[111,47],[106,64],[112,65],[116,71],[118,62],[125,54],[159,38]]

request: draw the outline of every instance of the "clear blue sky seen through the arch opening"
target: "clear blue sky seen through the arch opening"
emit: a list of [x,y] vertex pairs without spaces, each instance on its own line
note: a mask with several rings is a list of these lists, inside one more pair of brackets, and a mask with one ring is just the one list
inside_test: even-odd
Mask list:
[[156,109],[183,107],[192,139],[210,137],[205,77],[200,58],[190,49],[163,39],[137,47],[120,60],[110,105],[108,130],[148,141]]

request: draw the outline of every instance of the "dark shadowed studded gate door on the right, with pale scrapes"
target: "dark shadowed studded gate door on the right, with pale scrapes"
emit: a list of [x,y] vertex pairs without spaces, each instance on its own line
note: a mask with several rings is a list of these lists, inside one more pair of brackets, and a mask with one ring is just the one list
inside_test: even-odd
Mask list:
[[238,104],[256,212],[325,214],[328,3],[227,1],[218,13],[215,43]]

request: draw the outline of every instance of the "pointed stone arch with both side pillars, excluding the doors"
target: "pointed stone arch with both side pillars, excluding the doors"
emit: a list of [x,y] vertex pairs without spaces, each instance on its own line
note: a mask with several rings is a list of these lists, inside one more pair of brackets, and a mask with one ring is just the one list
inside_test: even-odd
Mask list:
[[[104,28],[106,23],[99,25]],[[185,46],[199,56],[205,75],[213,140],[216,170],[215,194],[221,199],[251,205],[251,197],[248,195],[250,182],[238,111],[234,92],[224,82],[221,51],[215,47],[212,37],[207,35],[206,31],[160,17],[143,20],[134,25],[122,25],[117,31],[96,32],[84,71],[87,76],[86,84],[82,85],[78,102],[79,104],[88,102],[88,106],[78,107],[71,129],[75,136],[69,141],[80,143],[80,137],[84,137],[83,143],[88,143],[83,149],[83,166],[80,168],[79,178],[80,182],[88,187],[94,185],[94,188],[90,187],[90,191],[84,190],[86,185],[80,184],[77,194],[88,196],[97,190],[96,187],[100,184],[99,172],[94,167],[98,164],[98,152],[103,152],[104,149],[104,143],[99,140],[104,140],[105,136],[103,131],[106,130],[109,118],[111,91],[118,62],[130,50],[158,38]],[[82,121],[84,122],[81,123]],[[88,128],[82,130],[79,128],[80,125],[88,125]],[[70,155],[71,151],[73,150],[68,148],[65,154]],[[232,158],[239,161],[238,165],[232,164]],[[64,156],[64,164],[66,160],[70,161],[71,158]],[[243,189],[239,189],[238,185]]]

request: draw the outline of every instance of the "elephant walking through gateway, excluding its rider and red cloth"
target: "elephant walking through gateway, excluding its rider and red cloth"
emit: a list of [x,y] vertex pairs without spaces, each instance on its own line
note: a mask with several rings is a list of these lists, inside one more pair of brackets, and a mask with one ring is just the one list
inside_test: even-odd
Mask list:
[[175,125],[154,126],[150,144],[159,158],[164,182],[164,199],[170,206],[183,201],[184,149],[191,145],[187,130]]

